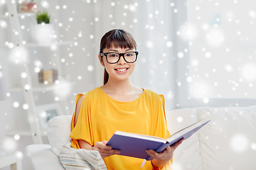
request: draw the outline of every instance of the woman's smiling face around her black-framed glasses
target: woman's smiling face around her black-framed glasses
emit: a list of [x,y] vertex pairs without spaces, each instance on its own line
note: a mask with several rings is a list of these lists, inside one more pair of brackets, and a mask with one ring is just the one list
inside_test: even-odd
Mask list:
[[[103,53],[106,52],[132,52],[134,49],[120,48],[120,47],[110,47],[103,49]],[[129,63],[124,60],[121,56],[119,61],[115,64],[110,64],[107,62],[106,56],[100,57],[99,59],[103,67],[105,67],[107,73],[109,74],[109,81],[123,81],[129,79],[130,75],[134,71],[135,62]]]

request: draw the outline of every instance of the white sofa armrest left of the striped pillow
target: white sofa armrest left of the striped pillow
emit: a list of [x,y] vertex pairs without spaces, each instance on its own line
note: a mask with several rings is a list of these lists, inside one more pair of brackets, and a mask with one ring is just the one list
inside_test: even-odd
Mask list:
[[36,170],[65,170],[58,157],[50,149],[50,145],[28,145],[26,153]]

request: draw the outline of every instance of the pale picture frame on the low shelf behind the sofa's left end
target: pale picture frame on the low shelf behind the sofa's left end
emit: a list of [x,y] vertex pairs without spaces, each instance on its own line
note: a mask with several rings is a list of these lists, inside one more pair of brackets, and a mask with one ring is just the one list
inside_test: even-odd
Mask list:
[[41,124],[41,128],[46,130],[48,121],[58,115],[63,115],[58,103],[46,104],[36,107],[38,113],[38,120]]

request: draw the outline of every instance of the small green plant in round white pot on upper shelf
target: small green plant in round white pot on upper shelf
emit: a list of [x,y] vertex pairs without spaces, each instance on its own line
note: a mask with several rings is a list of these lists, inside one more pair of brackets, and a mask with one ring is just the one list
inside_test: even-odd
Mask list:
[[33,39],[40,44],[48,44],[53,41],[53,25],[50,24],[50,15],[47,11],[36,13],[36,26],[33,31]]

